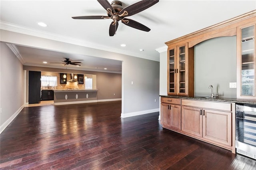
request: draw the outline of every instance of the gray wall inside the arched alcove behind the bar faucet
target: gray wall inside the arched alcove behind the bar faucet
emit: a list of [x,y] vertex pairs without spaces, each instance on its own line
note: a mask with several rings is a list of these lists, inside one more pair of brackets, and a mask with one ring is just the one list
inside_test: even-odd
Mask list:
[[209,85],[220,97],[236,98],[236,36],[218,37],[194,46],[194,94],[210,96]]

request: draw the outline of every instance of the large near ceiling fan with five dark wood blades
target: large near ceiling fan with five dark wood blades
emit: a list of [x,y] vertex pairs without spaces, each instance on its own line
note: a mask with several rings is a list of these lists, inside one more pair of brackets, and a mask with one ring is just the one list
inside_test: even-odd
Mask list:
[[108,16],[76,16],[72,17],[73,19],[112,19],[112,23],[109,27],[109,36],[114,36],[116,34],[116,30],[118,28],[118,22],[121,20],[123,24],[130,26],[132,28],[136,28],[138,30],[149,32],[150,28],[144,26],[143,24],[140,24],[139,22],[136,22],[134,20],[125,18],[127,16],[132,16],[134,14],[137,14],[143,10],[146,10],[147,8],[153,6],[159,0],[142,0],[140,2],[136,2],[135,4],[132,4],[127,7],[122,7],[122,2],[119,0],[114,0],[111,2],[111,4],[108,2],[108,0],[97,0],[101,6],[105,10],[107,10]]

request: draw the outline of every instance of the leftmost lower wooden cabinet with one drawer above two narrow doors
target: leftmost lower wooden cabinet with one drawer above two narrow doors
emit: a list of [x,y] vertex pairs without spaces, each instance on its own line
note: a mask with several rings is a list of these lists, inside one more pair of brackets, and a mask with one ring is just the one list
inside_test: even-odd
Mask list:
[[171,128],[181,130],[181,99],[161,97],[161,124]]

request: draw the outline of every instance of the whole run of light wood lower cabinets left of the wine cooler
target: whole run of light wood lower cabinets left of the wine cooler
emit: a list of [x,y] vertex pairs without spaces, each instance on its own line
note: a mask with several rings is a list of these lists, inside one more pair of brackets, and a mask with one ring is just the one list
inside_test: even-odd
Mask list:
[[163,128],[235,153],[235,103],[161,97]]

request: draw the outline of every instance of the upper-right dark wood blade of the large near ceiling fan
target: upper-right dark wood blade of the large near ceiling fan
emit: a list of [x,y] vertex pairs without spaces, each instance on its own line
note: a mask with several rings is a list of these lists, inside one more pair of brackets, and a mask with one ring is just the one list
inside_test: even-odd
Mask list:
[[134,14],[142,12],[143,10],[146,10],[150,6],[153,6],[154,4],[156,4],[157,2],[159,2],[159,0],[142,0],[140,2],[137,2],[135,4],[125,7],[120,11],[120,14],[122,14],[124,11],[127,11],[128,12],[127,16],[132,16]]

